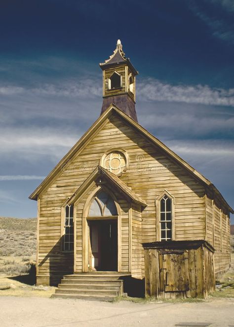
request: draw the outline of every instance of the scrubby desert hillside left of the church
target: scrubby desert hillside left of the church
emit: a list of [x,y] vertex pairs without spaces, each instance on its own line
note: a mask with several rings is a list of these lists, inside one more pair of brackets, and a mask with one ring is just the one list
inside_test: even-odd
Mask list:
[[36,218],[0,217],[0,274],[28,272],[36,258]]

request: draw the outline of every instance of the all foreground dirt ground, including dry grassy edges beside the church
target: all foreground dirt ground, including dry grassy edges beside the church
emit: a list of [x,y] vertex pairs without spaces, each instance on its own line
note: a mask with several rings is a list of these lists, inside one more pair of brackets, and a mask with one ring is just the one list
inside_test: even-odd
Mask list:
[[0,275],[0,327],[234,327],[234,265],[217,284],[207,300],[108,303],[52,299],[54,287],[36,287],[27,275]]

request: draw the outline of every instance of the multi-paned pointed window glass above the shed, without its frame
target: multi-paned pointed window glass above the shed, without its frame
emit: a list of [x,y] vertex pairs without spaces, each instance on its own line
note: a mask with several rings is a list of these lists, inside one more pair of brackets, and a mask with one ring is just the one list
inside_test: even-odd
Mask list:
[[169,241],[172,239],[172,201],[164,195],[160,200],[160,239]]

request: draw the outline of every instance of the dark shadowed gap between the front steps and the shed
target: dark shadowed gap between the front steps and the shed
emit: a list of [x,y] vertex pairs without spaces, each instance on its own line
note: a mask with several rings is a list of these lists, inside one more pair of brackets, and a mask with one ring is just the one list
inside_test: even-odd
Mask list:
[[145,297],[145,278],[136,279],[131,276],[121,276],[123,292],[131,297]]

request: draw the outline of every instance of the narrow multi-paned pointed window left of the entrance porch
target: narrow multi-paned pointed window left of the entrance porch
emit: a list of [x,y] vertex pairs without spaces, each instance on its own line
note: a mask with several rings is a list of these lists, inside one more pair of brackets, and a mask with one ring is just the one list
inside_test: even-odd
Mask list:
[[64,208],[64,242],[63,251],[74,250],[74,207],[66,205]]

